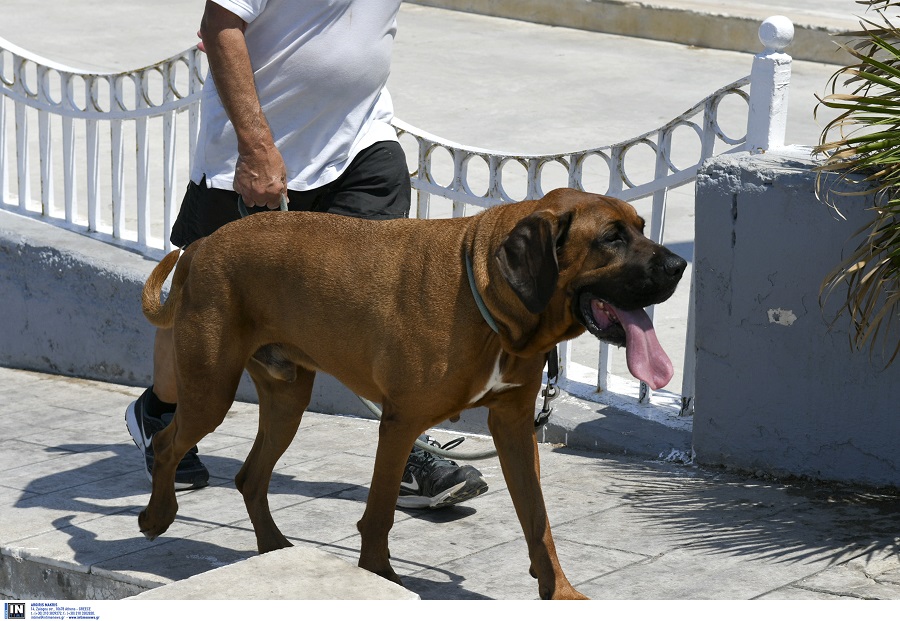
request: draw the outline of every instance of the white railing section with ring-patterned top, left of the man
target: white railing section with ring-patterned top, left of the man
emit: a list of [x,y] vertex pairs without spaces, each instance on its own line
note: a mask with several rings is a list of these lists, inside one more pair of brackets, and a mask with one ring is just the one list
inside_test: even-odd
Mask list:
[[205,74],[196,48],[92,73],[0,39],[0,205],[148,256],[170,250],[176,171],[190,169]]

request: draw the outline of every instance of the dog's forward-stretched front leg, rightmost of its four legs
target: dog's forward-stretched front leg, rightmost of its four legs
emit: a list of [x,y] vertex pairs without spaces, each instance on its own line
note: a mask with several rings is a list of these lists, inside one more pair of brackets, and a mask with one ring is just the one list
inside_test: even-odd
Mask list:
[[[523,391],[525,392],[525,391]],[[488,427],[497,447],[497,456],[509,495],[528,543],[531,575],[538,579],[542,599],[585,599],[563,573],[550,534],[550,521],[541,493],[540,462],[534,433],[534,398],[491,408]]]

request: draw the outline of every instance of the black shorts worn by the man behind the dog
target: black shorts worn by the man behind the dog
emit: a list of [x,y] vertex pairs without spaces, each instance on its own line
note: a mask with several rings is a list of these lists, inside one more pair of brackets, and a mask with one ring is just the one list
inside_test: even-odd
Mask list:
[[[290,211],[319,211],[367,220],[405,218],[410,205],[409,171],[398,142],[376,142],[360,151],[344,173],[320,188],[288,190]],[[237,192],[188,184],[181,210],[172,225],[172,244],[185,248],[219,227],[240,218]],[[253,214],[269,211],[249,208]]]

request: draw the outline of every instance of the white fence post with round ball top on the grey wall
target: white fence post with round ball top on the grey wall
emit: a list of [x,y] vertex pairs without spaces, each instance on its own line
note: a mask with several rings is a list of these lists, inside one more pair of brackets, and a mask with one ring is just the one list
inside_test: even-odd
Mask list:
[[765,49],[753,57],[750,71],[746,148],[751,152],[784,146],[791,57],[783,50],[794,40],[794,24],[783,15],[770,17],[759,27],[759,40]]

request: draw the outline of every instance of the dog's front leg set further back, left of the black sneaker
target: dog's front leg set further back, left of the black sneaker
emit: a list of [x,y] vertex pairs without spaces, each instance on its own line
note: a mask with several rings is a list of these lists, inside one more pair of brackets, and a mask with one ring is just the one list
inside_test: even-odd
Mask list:
[[362,536],[359,566],[401,584],[400,577],[391,567],[388,533],[394,525],[394,509],[400,494],[403,468],[416,438],[425,429],[398,419],[389,404],[383,405],[372,485],[369,488],[366,510],[356,525]]

